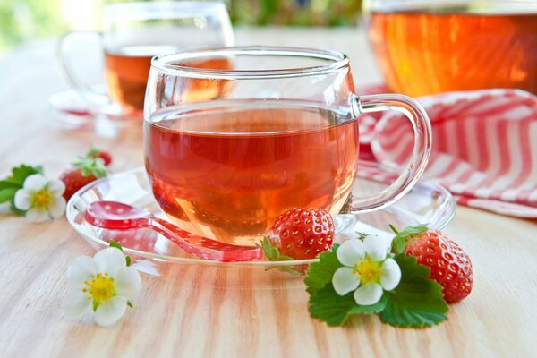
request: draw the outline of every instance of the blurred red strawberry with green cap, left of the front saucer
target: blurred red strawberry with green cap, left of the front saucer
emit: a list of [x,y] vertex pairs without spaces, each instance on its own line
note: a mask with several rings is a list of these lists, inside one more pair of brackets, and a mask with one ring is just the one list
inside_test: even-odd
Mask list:
[[100,158],[80,158],[73,166],[74,168],[68,169],[60,176],[60,180],[65,184],[65,200],[71,199],[72,194],[86,184],[107,175],[107,169]]

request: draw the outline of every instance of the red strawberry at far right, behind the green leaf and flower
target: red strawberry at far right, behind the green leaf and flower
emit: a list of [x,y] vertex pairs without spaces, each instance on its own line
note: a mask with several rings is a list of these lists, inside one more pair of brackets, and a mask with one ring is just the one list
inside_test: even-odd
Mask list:
[[430,278],[444,287],[447,303],[459,302],[472,291],[473,268],[468,254],[442,232],[426,229],[405,236],[404,252],[430,268]]

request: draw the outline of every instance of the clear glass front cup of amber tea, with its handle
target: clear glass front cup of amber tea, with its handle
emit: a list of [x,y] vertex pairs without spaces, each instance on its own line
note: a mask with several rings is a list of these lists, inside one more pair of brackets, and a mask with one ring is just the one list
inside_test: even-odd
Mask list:
[[[232,61],[233,69],[190,65],[210,61]],[[396,182],[384,192],[353,198],[353,210],[379,209],[401,198],[429,158],[430,122],[422,107],[395,94],[357,97],[343,54],[220,47],[158,55],[151,64],[146,170],[160,208],[193,233],[251,243],[287,209],[322,208],[337,215],[360,170],[361,113],[404,113],[415,144]],[[225,90],[211,101],[191,95],[206,87]]]

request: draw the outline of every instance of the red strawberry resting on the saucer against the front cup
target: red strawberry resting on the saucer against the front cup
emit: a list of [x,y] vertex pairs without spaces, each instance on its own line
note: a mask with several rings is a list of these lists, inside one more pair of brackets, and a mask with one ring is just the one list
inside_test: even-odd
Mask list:
[[334,221],[328,211],[296,208],[277,218],[268,229],[263,248],[273,247],[278,251],[274,257],[273,250],[264,250],[268,260],[285,256],[303,260],[316,258],[320,252],[329,250],[333,241]]

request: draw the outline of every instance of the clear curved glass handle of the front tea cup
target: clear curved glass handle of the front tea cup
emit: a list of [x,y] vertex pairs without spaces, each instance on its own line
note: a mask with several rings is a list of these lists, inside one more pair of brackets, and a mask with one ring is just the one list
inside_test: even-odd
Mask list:
[[396,110],[404,114],[411,122],[414,132],[414,146],[410,161],[403,172],[384,191],[370,198],[353,198],[351,211],[374,211],[383,209],[401,199],[418,181],[429,161],[432,145],[432,131],[429,116],[422,105],[404,95],[381,94],[354,96],[351,98],[354,115],[363,113]]

